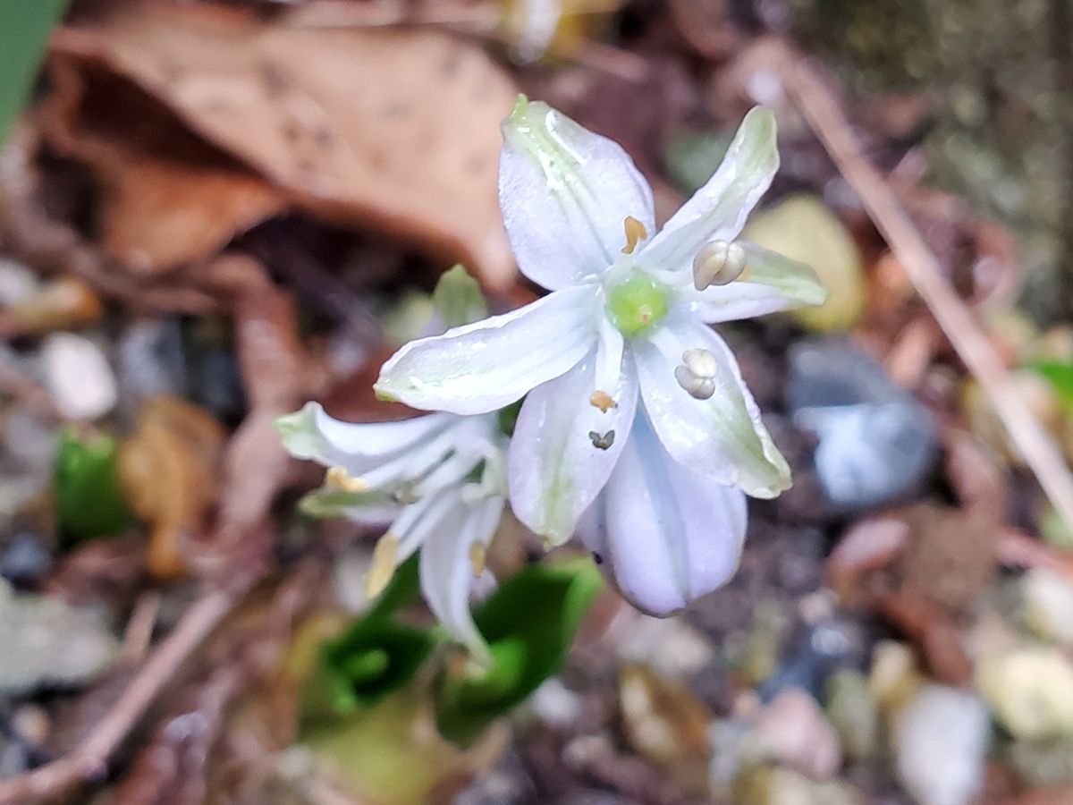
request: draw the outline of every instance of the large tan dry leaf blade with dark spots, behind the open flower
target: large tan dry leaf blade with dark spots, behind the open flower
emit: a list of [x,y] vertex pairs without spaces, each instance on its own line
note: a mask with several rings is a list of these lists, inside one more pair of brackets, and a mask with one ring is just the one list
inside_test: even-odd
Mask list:
[[61,30],[54,58],[133,82],[314,215],[513,281],[496,172],[516,90],[474,45],[156,5]]

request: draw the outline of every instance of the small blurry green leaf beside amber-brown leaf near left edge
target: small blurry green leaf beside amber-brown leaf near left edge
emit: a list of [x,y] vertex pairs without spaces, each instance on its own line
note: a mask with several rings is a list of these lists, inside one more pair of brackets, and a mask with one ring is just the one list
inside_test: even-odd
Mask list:
[[116,469],[116,441],[63,431],[54,463],[56,522],[69,542],[109,537],[130,522]]

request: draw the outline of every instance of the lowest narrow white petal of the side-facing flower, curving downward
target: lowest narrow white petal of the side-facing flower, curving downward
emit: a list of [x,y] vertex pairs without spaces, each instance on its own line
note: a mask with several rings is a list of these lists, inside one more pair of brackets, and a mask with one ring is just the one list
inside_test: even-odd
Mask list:
[[493,497],[475,506],[460,502],[441,519],[435,535],[421,548],[421,590],[440,623],[477,661],[488,660],[488,646],[470,614],[469,592],[473,583],[472,545],[487,545],[503,512],[503,498]]

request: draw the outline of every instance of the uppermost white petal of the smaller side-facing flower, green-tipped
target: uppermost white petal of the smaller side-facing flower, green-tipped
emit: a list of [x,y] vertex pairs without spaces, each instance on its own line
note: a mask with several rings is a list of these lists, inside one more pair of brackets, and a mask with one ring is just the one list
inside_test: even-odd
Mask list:
[[343,467],[356,475],[424,443],[453,421],[453,416],[437,413],[399,422],[342,422],[328,416],[319,402],[307,402],[278,418],[274,425],[291,455],[325,467]]

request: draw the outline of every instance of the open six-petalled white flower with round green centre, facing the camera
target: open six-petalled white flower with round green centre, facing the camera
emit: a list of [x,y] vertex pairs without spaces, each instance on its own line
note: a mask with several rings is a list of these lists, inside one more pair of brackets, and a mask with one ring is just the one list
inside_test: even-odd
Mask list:
[[660,450],[705,483],[785,489],[789,467],[707,326],[824,297],[807,266],[736,240],[778,167],[774,116],[750,112],[716,174],[651,237],[651,190],[617,144],[525,98],[503,136],[511,246],[552,293],[407,345],[377,391],[459,414],[528,395],[508,457],[511,503],[552,543],[570,538],[620,459],[666,464],[655,447],[623,453],[641,410]]

